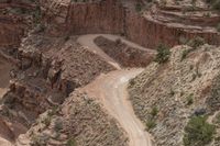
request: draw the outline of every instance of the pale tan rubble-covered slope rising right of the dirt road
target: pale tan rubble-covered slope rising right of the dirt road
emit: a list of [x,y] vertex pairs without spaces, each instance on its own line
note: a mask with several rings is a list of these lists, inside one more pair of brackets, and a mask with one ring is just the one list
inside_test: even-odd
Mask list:
[[[150,132],[158,146],[183,145],[184,128],[191,116],[219,111],[219,56],[215,46],[176,46],[169,61],[152,63],[130,80],[135,114],[146,125],[153,119]],[[219,145],[218,138],[211,145]]]

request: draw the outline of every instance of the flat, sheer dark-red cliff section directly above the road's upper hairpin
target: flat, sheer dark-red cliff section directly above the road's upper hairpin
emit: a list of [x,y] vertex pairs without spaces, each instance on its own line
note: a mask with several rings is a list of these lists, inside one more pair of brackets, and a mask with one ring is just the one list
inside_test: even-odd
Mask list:
[[75,34],[122,34],[124,11],[114,0],[95,3],[72,3],[67,19],[68,29]]

